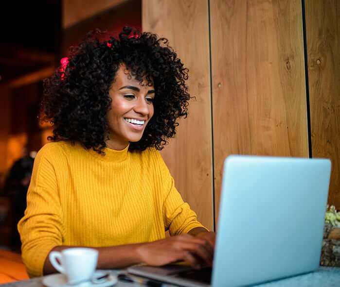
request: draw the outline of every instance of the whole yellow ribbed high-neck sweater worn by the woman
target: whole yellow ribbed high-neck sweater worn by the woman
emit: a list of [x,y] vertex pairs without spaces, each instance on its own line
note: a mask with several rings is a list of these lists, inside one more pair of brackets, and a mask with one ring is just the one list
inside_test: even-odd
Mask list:
[[18,223],[22,258],[41,276],[58,245],[115,246],[158,240],[203,227],[184,203],[155,149],[105,149],[46,144],[37,154],[25,216]]

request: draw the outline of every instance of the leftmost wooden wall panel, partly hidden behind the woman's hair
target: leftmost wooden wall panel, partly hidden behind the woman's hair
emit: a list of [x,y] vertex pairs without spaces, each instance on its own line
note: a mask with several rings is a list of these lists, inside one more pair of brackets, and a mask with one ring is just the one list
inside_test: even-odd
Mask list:
[[189,68],[187,119],[180,120],[176,139],[162,156],[183,199],[198,219],[213,229],[211,96],[207,0],[143,0],[143,31],[169,39]]

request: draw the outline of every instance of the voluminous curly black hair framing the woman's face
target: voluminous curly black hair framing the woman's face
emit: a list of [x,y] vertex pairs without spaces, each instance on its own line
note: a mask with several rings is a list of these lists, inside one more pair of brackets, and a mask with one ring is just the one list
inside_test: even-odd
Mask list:
[[119,36],[101,41],[100,30],[86,35],[79,46],[71,48],[67,66],[61,65],[44,81],[40,104],[42,121],[54,129],[52,141],[80,142],[85,148],[105,154],[109,89],[118,68],[125,64],[140,83],[154,85],[154,116],[142,138],[131,142],[130,151],[148,147],[161,150],[174,137],[178,118],[187,116],[190,95],[185,81],[188,69],[169,46],[166,38],[139,33],[124,27]]

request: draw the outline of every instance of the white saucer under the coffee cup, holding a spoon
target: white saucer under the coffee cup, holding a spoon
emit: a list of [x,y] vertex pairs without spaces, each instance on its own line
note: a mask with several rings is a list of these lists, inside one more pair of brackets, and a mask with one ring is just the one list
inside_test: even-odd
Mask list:
[[[94,273],[94,277],[100,277],[102,275],[105,275],[106,273],[107,272],[96,271]],[[66,275],[60,273],[45,276],[42,280],[42,284],[47,287],[109,287],[115,285],[116,283],[117,277],[112,274],[110,274],[107,277],[107,280],[103,283],[92,283],[89,281],[71,285],[68,284]]]

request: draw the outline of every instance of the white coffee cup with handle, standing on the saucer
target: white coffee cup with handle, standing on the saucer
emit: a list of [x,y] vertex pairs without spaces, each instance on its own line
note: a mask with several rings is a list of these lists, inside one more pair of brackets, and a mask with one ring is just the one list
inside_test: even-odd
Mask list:
[[77,284],[91,280],[97,267],[98,251],[75,247],[62,252],[52,251],[49,258],[53,267],[67,276],[69,284]]

